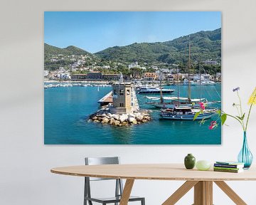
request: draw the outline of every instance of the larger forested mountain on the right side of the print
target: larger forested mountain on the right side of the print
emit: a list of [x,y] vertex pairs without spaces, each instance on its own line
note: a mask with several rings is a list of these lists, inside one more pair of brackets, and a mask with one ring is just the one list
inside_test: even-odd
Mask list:
[[200,31],[172,41],[156,43],[133,43],[129,46],[114,46],[95,53],[105,60],[134,61],[144,63],[186,63],[188,42],[191,41],[192,61],[221,60],[221,28],[214,31]]

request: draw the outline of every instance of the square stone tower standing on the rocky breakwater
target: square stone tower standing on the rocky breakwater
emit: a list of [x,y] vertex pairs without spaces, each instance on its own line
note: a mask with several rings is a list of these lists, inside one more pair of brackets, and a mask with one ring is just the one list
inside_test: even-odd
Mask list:
[[119,83],[112,85],[113,107],[112,113],[131,113],[132,112],[132,85],[131,83]]

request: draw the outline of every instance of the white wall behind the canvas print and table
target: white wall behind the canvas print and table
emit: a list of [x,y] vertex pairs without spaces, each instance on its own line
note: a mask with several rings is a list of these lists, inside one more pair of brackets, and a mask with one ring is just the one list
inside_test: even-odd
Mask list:
[[[243,102],[255,87],[256,1],[1,1],[0,7],[0,204],[82,204],[82,178],[50,174],[51,167],[82,164],[85,156],[122,157],[123,163],[235,159],[242,130],[232,120],[222,146],[45,146],[43,145],[43,11],[222,11],[223,108],[232,112],[240,86]],[[254,126],[253,126],[254,125]],[[256,156],[256,107],[248,130]],[[207,136],[202,136],[207,137]],[[133,194],[161,204],[182,182],[137,181]],[[247,204],[256,204],[256,182],[229,182]],[[102,187],[97,186],[101,191]],[[233,204],[214,186],[214,204]],[[178,204],[192,204],[192,192]]]

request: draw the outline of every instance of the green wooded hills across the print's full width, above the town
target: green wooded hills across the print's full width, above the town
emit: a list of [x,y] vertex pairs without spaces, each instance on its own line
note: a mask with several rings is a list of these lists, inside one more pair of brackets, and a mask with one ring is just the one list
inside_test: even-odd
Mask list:
[[[84,62],[78,65],[79,68],[109,65],[110,68],[95,69],[103,73],[138,73],[138,70],[127,68],[129,63],[137,61],[139,65],[146,67],[147,71],[150,71],[151,65],[157,65],[159,68],[173,68],[171,64],[177,64],[181,72],[186,73],[189,41],[191,43],[191,64],[195,70],[199,61],[212,59],[221,63],[221,28],[218,28],[214,31],[200,31],[181,36],[172,41],[114,46],[95,54],[75,46],[58,48],[45,43],[45,70],[57,70],[60,67],[70,69],[70,65],[82,60]],[[220,64],[204,65],[204,69],[207,73],[217,73],[220,72],[221,66]]]

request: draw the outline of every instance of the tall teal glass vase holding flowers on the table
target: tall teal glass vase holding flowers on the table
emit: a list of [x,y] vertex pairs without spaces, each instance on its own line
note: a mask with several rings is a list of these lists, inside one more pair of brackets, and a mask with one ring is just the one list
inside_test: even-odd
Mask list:
[[246,132],[243,134],[243,142],[242,142],[242,149],[238,154],[238,162],[245,163],[244,169],[249,169],[252,164],[252,152],[250,152],[250,149],[247,144],[247,135]]

